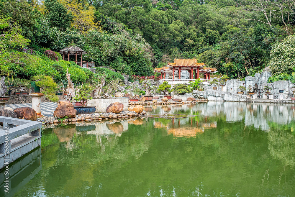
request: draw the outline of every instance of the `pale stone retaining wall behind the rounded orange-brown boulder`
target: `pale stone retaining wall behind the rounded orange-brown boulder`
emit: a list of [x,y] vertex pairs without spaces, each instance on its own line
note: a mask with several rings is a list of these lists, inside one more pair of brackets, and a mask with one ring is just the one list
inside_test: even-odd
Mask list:
[[122,103],[124,105],[123,111],[128,109],[129,98],[121,97],[121,98],[93,98],[92,100],[87,101],[87,106],[95,106],[96,113],[106,112],[106,108],[115,102]]

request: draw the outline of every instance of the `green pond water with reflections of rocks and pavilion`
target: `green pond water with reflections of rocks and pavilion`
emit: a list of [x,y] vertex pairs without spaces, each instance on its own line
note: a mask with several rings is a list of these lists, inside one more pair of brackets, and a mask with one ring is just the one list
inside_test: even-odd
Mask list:
[[197,116],[47,126],[0,196],[295,196],[294,105],[145,110]]

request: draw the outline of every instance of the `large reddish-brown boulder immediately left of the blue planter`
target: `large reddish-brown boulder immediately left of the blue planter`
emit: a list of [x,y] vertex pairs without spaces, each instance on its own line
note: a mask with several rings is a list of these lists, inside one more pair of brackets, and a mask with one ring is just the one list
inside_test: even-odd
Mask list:
[[58,118],[63,118],[68,116],[68,118],[75,118],[77,110],[74,109],[73,104],[70,101],[59,101],[58,107],[55,109],[53,116]]

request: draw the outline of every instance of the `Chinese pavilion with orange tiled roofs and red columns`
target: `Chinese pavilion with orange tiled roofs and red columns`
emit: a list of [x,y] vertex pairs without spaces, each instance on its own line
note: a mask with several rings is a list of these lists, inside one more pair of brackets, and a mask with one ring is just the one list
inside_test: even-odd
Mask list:
[[173,63],[168,63],[166,67],[162,68],[155,68],[154,72],[161,73],[161,79],[165,80],[165,75],[175,76],[175,71],[178,71],[178,79],[180,79],[181,71],[189,70],[190,80],[194,77],[195,72],[195,79],[199,78],[199,75],[204,75],[204,79],[210,79],[211,73],[216,73],[216,68],[208,68],[205,67],[204,63],[198,63],[196,58],[194,59],[174,59]]

